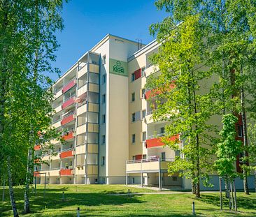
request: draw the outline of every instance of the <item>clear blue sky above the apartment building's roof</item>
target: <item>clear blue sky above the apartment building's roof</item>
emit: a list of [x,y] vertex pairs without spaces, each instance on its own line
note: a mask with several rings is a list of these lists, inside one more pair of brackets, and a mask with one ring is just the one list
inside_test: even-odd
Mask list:
[[[166,13],[158,11],[154,0],[70,0],[64,3],[64,31],[57,33],[60,45],[56,62],[62,74],[101,38],[116,36],[149,43],[149,26],[161,21]],[[56,79],[56,75],[51,75]]]

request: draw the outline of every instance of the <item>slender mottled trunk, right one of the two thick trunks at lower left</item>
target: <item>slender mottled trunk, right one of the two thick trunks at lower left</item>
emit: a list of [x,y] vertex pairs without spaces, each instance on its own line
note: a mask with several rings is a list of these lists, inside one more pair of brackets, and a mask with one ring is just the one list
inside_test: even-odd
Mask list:
[[31,153],[31,149],[29,149],[27,153],[27,174],[26,174],[25,190],[24,190],[24,214],[28,214],[30,212],[29,185],[31,183],[31,175],[32,175],[31,160],[32,160],[32,153]]

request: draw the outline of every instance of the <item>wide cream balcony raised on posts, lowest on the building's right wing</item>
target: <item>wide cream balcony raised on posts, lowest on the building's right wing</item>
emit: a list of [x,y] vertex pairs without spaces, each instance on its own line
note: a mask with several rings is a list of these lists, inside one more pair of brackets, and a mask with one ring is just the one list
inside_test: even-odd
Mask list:
[[141,160],[127,160],[126,172],[159,172],[162,170],[168,170],[168,164],[172,162],[174,158],[148,158]]

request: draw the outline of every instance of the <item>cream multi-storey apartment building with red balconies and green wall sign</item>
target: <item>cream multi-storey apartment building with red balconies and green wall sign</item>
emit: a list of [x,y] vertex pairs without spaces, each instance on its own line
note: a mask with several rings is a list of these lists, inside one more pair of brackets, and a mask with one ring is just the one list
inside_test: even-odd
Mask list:
[[[52,141],[55,150],[43,156],[48,164],[35,167],[46,174],[36,175],[38,183],[191,188],[190,179],[168,176],[180,153],[161,142],[167,123],[152,119],[145,83],[159,73],[149,59],[158,47],[156,40],[141,45],[108,34],[55,82],[52,126],[65,142]],[[41,154],[40,145],[34,149]],[[218,176],[213,182],[218,188]]]

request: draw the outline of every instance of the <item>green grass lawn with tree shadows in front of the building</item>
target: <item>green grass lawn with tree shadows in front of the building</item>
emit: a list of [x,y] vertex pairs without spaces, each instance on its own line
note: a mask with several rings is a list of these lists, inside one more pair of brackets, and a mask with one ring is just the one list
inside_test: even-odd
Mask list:
[[[118,185],[47,185],[43,198],[43,186],[37,186],[37,195],[31,195],[31,214],[22,215],[23,190],[15,188],[15,197],[20,216],[192,216],[192,201],[195,202],[197,216],[256,216],[256,194],[238,193],[239,211],[229,212],[225,200],[224,211],[220,211],[218,193],[202,193],[195,199],[190,193],[171,195],[109,195],[113,193],[156,192],[154,190],[131,188]],[[62,191],[65,200],[62,201]],[[0,190],[2,195],[2,189]],[[1,197],[0,197],[1,198]],[[0,202],[0,216],[12,216],[8,189],[5,202]]]

